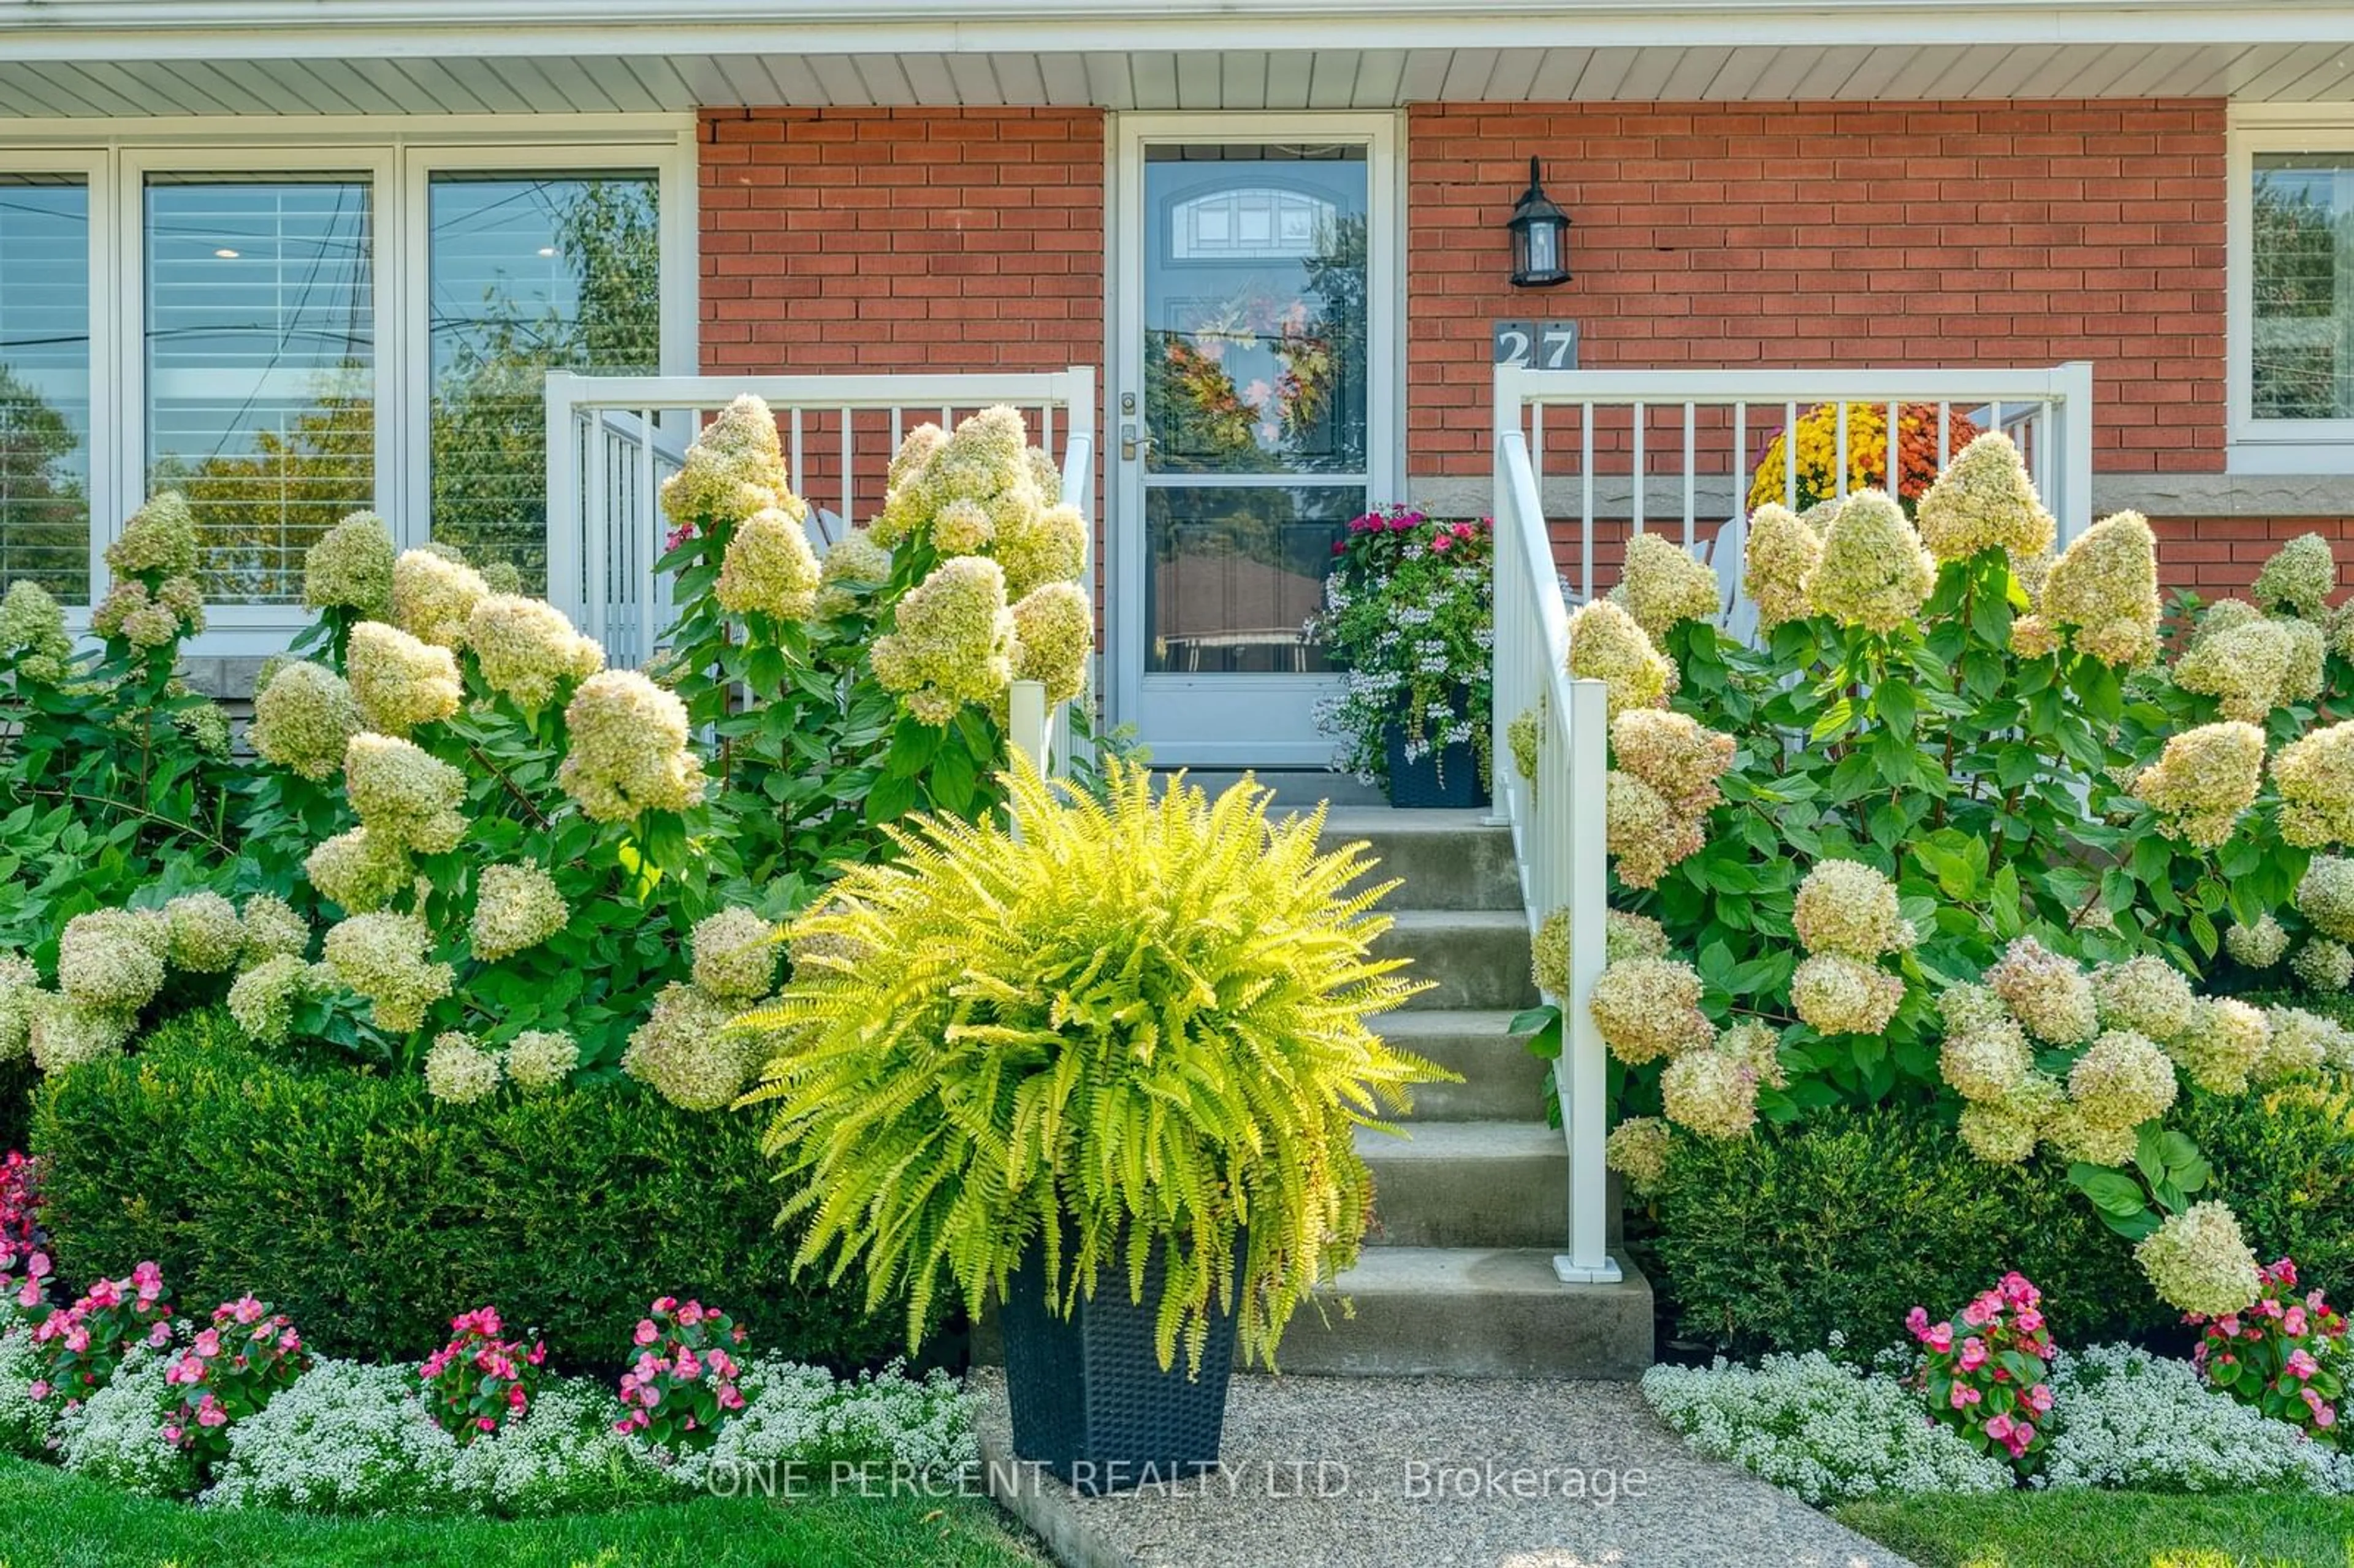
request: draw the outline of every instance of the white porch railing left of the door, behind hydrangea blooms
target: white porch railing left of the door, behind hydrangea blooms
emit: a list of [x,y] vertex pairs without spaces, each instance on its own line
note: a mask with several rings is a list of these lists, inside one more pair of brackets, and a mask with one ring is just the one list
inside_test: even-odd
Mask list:
[[[810,544],[824,551],[883,501],[883,476],[899,438],[923,424],[944,428],[1008,403],[1029,419],[1031,440],[1057,452],[1062,494],[1095,516],[1095,370],[1043,374],[847,374],[847,377],[579,377],[548,374],[548,603],[598,643],[617,666],[645,664],[673,619],[669,577],[654,570],[669,537],[661,480],[685,461],[704,419],[758,396],[777,414],[793,487],[810,501]],[[1092,539],[1092,525],[1090,525]],[[1095,598],[1088,553],[1088,598]],[[1019,695],[1017,695],[1019,697]],[[1043,704],[1040,704],[1043,706]],[[1012,744],[1069,763],[1069,706],[1038,713],[1024,730],[1015,704]]]

